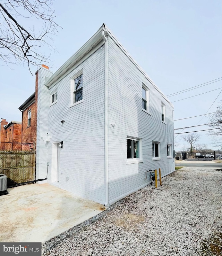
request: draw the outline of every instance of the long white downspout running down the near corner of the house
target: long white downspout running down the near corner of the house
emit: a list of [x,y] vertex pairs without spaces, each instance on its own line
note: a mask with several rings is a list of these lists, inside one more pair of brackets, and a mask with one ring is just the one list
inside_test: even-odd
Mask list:
[[108,176],[108,42],[105,32],[102,31],[105,41],[105,203],[109,204],[109,176]]

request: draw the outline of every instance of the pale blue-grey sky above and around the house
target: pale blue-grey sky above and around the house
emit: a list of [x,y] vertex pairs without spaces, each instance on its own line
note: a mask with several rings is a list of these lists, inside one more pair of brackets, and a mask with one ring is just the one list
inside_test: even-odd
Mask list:
[[[55,21],[62,27],[54,37],[51,54],[55,72],[105,23],[157,87],[169,95],[222,77],[221,0],[63,0],[53,3]],[[26,25],[27,26],[27,25]],[[3,64],[3,63],[0,63]],[[0,66],[0,118],[21,121],[18,107],[35,91],[35,75],[26,65]],[[32,67],[35,74],[36,67]],[[222,81],[169,97],[176,101],[222,87]],[[174,119],[216,111],[222,88],[173,102]],[[221,94],[219,95],[219,93]],[[218,96],[219,95],[219,96]],[[208,123],[208,117],[174,122],[174,128]],[[201,121],[200,121],[201,120]],[[198,126],[177,132],[210,129]],[[199,143],[218,149],[207,132]],[[184,141],[177,136],[178,146]]]

